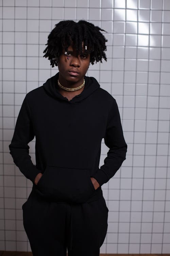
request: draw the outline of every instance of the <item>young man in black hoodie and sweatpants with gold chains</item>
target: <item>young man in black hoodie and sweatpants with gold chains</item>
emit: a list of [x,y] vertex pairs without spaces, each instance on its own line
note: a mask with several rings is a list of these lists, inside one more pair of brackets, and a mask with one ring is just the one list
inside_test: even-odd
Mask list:
[[[101,186],[125,160],[118,106],[89,64],[106,60],[104,31],[65,20],[48,36],[44,57],[59,72],[23,100],[10,154],[33,182],[23,224],[34,256],[99,256],[108,208]],[[28,143],[36,138],[36,166]],[[99,168],[101,141],[109,147]]]

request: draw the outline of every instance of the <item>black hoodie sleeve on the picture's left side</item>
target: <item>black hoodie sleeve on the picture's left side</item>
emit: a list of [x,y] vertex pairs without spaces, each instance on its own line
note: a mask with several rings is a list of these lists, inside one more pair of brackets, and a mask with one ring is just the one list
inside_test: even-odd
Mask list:
[[9,145],[10,154],[19,170],[34,183],[36,175],[40,172],[33,165],[29,155],[28,143],[34,139],[34,130],[31,122],[31,111],[27,102],[27,95],[23,100],[18,114],[14,135]]

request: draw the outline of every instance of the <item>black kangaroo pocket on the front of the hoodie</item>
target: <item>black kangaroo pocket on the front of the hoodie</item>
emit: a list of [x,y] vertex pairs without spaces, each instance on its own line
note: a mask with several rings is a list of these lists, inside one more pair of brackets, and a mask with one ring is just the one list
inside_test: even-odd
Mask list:
[[86,202],[95,192],[89,169],[54,165],[46,166],[37,188],[47,198],[75,203]]

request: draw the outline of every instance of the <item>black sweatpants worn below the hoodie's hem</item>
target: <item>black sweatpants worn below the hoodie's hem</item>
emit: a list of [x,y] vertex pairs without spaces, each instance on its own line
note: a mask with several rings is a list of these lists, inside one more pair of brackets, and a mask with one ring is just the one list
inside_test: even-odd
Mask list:
[[33,256],[99,256],[107,232],[104,197],[86,203],[47,200],[34,191],[22,205]]

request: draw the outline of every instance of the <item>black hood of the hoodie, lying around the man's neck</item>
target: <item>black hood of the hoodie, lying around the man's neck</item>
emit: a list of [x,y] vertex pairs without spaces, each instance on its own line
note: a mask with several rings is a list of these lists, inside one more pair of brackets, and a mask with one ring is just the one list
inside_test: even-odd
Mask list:
[[57,80],[59,77],[59,72],[56,73],[54,76],[50,77],[44,84],[43,88],[51,97],[66,101],[68,104],[73,103],[79,103],[83,99],[87,98],[89,95],[91,95],[94,91],[99,89],[100,84],[97,82],[97,80],[94,77],[87,77],[84,76],[85,85],[84,90],[81,92],[81,94],[76,95],[72,98],[72,100],[68,100],[66,97],[64,97],[57,88]]

